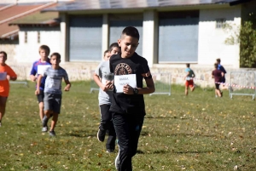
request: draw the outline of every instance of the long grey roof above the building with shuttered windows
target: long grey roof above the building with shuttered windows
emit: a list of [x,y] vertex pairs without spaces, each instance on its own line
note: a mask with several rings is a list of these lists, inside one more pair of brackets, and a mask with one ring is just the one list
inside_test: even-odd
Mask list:
[[43,11],[68,12],[97,9],[138,9],[205,4],[236,5],[248,1],[253,0],[75,0],[69,3],[60,3],[54,8],[47,8]]

